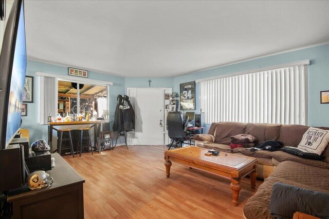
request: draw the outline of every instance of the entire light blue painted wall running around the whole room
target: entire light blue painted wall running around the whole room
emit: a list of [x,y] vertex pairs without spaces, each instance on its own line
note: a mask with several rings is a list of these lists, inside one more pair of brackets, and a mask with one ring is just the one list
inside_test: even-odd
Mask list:
[[[311,62],[311,65],[308,68],[308,125],[329,127],[329,104],[320,104],[320,91],[329,90],[329,44],[267,56],[177,77],[124,78],[89,71],[89,78],[100,81],[111,81],[114,83],[113,86],[110,86],[109,94],[109,117],[113,120],[117,95],[125,93],[127,87],[149,87],[149,79],[152,81],[151,87],[172,87],[173,91],[179,92],[180,83],[217,75],[286,64],[304,59],[309,59]],[[27,75],[35,76],[35,72],[37,71],[67,75],[67,67],[28,61]],[[34,78],[34,103],[28,104],[28,116],[23,117],[22,124],[22,128],[28,128],[30,130],[31,141],[39,138],[47,138],[47,126],[40,126],[38,124],[39,103],[37,96],[40,92],[38,88],[38,81]],[[196,84],[195,111],[200,111],[198,84]],[[207,132],[207,130],[205,130],[205,132]]]

